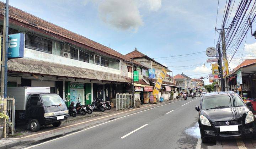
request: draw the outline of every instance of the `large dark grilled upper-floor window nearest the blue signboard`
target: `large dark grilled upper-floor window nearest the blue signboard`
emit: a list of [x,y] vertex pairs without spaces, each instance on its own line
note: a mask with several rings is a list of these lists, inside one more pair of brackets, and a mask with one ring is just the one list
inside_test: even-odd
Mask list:
[[43,38],[40,35],[26,33],[25,48],[52,54],[52,40]]

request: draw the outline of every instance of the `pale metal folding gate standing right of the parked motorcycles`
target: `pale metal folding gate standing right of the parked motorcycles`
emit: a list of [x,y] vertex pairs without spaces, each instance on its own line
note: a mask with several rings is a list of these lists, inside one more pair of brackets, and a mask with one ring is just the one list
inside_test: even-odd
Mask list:
[[117,93],[116,94],[116,110],[128,109],[133,106],[132,94]]

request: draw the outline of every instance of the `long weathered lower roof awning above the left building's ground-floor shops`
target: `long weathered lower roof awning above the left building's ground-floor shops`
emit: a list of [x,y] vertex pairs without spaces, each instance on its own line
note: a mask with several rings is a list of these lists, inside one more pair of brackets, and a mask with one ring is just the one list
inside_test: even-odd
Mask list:
[[[79,61],[78,61],[79,62]],[[107,69],[107,68],[106,68]],[[81,67],[56,64],[52,62],[33,59],[10,59],[8,60],[9,72],[31,73],[34,75],[47,75],[57,77],[71,77],[98,81],[127,82],[124,76],[103,71],[96,71]]]

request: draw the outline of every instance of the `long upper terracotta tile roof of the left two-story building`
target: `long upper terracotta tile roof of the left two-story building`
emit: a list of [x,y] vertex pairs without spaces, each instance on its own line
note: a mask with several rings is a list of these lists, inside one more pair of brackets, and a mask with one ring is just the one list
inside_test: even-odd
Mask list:
[[[5,7],[5,3],[0,2],[0,8],[4,8],[4,7]],[[0,9],[0,14],[4,15],[4,10]],[[25,11],[22,11],[22,10],[17,9],[10,5],[9,5],[9,18],[14,19],[18,22],[25,23],[29,26],[36,27],[38,29],[42,29],[46,32],[50,32],[50,33],[59,35],[61,37],[72,40],[74,42],[89,46],[91,48],[94,48],[94,49],[104,52],[106,54],[119,57],[123,60],[131,61],[131,59],[129,59],[128,57],[124,56],[123,54],[121,54],[111,48],[108,48],[107,46],[99,44],[91,39],[88,39],[88,38],[82,36],[82,35],[71,32],[65,28],[62,28],[53,23],[45,21],[39,17],[31,15],[30,13],[27,13]],[[134,63],[139,66],[142,66],[138,62],[134,62]]]

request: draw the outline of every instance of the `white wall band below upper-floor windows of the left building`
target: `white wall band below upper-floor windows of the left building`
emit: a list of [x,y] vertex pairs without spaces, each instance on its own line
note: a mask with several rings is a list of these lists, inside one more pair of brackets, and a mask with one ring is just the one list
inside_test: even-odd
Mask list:
[[91,64],[91,63],[83,62],[83,61],[78,61],[78,60],[74,60],[74,59],[69,59],[69,58],[66,58],[63,56],[44,53],[44,52],[40,52],[40,51],[28,49],[28,48],[24,49],[24,57],[30,58],[30,59],[35,59],[35,60],[54,62],[57,64],[64,64],[64,65],[76,66],[76,67],[81,67],[81,68],[97,70],[97,71],[120,74],[120,70],[116,70],[113,68],[99,66],[99,65],[95,65],[95,64]]

